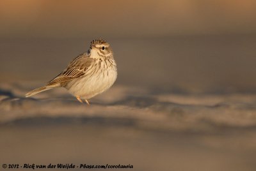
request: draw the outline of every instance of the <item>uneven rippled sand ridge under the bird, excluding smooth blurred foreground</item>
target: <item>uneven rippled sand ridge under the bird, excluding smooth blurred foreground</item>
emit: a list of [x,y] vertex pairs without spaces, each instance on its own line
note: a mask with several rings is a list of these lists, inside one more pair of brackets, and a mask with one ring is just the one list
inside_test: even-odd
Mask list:
[[[153,130],[214,131],[219,126],[247,128],[256,125],[256,96],[246,94],[156,94],[150,89],[116,85],[80,104],[65,89],[50,90],[24,98],[29,89],[8,86],[1,90],[1,123],[31,117],[99,117],[130,120]],[[140,93],[138,93],[140,92]],[[12,111],[12,115],[10,115]],[[104,112],[102,112],[104,111]],[[111,120],[110,119],[110,120]],[[209,131],[209,130],[207,130]]]

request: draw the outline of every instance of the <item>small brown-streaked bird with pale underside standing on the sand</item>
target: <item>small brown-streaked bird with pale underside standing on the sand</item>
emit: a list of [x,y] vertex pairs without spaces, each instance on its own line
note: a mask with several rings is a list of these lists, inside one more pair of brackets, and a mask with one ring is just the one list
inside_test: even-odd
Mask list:
[[87,52],[75,57],[59,75],[43,87],[29,91],[25,96],[65,87],[78,101],[85,101],[103,93],[111,87],[117,78],[116,62],[109,43],[102,39],[91,41]]

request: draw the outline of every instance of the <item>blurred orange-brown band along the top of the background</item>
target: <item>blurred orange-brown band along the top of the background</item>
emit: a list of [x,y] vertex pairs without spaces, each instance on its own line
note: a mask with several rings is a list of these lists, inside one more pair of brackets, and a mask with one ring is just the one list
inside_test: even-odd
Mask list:
[[0,36],[254,33],[255,1],[2,0]]

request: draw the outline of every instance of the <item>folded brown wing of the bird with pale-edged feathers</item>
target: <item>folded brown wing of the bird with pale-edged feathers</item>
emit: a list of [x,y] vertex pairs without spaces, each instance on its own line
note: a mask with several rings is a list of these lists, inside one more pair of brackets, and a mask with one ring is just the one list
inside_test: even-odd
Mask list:
[[53,78],[47,85],[64,83],[74,78],[83,77],[86,71],[91,66],[94,59],[87,57],[86,54],[77,56],[71,63],[68,64],[67,69],[62,71],[57,77]]

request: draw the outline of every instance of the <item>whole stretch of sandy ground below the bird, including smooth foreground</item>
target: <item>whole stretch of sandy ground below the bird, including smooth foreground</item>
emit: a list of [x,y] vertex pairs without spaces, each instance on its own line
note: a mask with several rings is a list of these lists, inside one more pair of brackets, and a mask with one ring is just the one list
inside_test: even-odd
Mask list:
[[[29,91],[24,83],[0,87],[0,160],[5,163],[255,168],[256,96],[157,94],[115,85],[88,106],[65,89],[24,98]],[[11,149],[17,153],[10,154]]]

